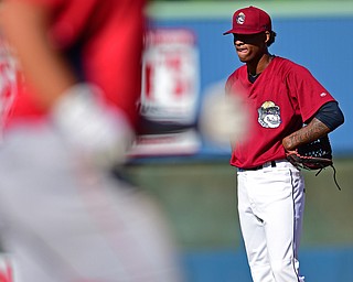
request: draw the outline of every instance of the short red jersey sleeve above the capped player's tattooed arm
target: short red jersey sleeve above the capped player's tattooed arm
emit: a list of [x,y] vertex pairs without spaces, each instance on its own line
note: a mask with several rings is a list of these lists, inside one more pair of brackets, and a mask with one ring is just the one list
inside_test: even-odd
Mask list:
[[287,85],[303,122],[310,120],[315,112],[329,101],[335,99],[303,66],[295,65],[288,73]]

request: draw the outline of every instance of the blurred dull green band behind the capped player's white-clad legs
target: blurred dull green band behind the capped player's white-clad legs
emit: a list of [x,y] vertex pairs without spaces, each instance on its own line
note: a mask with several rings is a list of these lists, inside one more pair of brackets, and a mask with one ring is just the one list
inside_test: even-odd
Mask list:
[[[353,245],[353,160],[335,160],[318,176],[304,172],[307,203],[302,246]],[[227,160],[154,163],[127,169],[130,178],[154,196],[183,249],[237,248],[235,169]]]

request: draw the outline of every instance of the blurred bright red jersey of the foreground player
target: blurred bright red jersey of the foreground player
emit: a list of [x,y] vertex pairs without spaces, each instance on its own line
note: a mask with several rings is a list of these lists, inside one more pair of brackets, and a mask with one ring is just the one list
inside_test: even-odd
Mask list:
[[[141,75],[145,0],[21,1],[42,6],[53,15],[49,36],[54,46],[67,55],[82,80],[99,86],[107,101],[122,109],[135,123],[141,83],[137,77]],[[45,118],[46,112],[33,97],[28,86],[19,90],[10,124],[18,119]]]

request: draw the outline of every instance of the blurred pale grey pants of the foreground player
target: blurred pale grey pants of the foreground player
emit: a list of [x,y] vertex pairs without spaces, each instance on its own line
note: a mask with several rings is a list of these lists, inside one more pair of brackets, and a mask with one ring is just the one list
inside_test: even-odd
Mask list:
[[[0,150],[0,235],[31,282],[180,282],[163,216],[147,195],[87,170],[46,124]],[[18,281],[18,280],[15,280]]]

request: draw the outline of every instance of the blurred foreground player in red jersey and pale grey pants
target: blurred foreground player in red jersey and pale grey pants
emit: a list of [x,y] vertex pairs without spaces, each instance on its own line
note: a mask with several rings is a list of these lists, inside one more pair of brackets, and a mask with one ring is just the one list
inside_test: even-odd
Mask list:
[[176,282],[154,203],[111,177],[133,138],[143,0],[6,0],[25,85],[7,122],[0,216],[15,278]]

